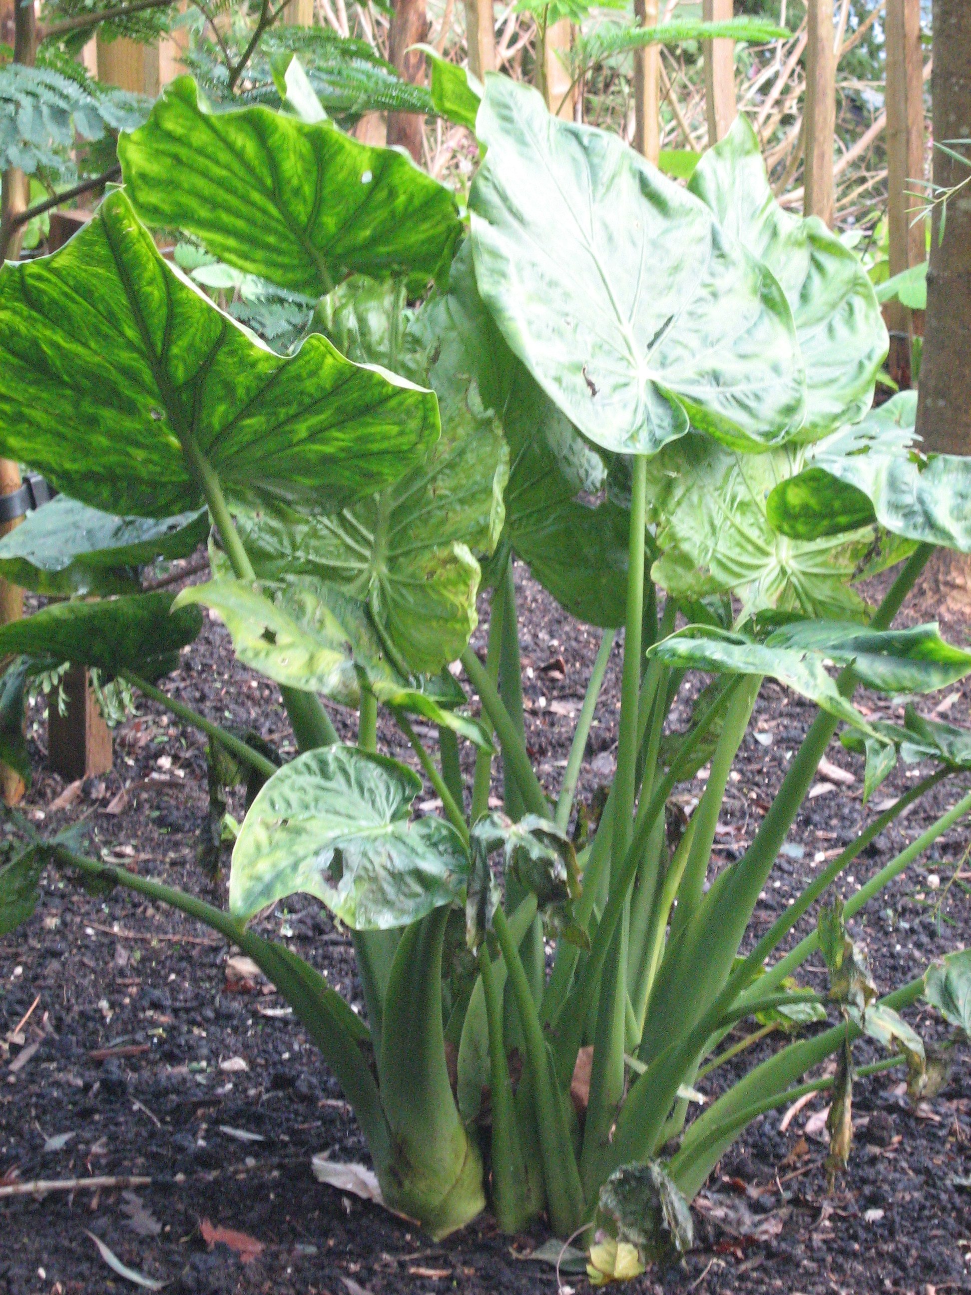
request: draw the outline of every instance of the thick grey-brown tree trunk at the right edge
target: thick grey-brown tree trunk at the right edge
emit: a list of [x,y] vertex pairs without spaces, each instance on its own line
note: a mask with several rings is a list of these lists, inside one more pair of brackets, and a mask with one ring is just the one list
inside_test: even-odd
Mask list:
[[[936,144],[971,137],[971,5],[933,0],[933,139]],[[957,149],[971,158],[967,145]],[[971,168],[933,152],[933,183],[953,188]],[[971,185],[933,212],[927,273],[927,320],[921,363],[917,430],[924,448],[971,455]],[[952,609],[971,607],[971,557],[941,550],[930,579]]]

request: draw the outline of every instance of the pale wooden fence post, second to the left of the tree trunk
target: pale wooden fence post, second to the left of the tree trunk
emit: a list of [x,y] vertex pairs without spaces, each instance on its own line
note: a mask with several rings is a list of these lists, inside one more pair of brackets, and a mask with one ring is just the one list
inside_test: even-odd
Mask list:
[[803,107],[805,171],[803,211],[830,228],[836,208],[832,149],[836,139],[836,57],[832,44],[832,0],[807,0],[805,105]]

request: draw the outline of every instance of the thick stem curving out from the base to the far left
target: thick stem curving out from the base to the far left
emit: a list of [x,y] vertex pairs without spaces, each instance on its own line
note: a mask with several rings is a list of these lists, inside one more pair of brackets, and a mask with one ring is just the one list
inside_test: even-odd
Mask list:
[[378,1088],[368,1062],[355,1041],[355,1035],[348,1028],[360,1031],[363,1027],[347,1004],[326,985],[313,967],[303,963],[289,949],[247,931],[242,922],[238,922],[229,913],[195,899],[194,895],[186,895],[184,891],[148,877],[139,877],[124,868],[109,866],[93,859],[85,859],[83,855],[75,855],[63,846],[54,847],[50,855],[61,868],[74,869],[95,879],[113,882],[155,903],[179,909],[188,917],[194,917],[236,944],[247,957],[251,957],[293,1005],[296,1017],[321,1049],[326,1063],[337,1075],[344,1096],[353,1106],[375,1164],[387,1159],[390,1134]]

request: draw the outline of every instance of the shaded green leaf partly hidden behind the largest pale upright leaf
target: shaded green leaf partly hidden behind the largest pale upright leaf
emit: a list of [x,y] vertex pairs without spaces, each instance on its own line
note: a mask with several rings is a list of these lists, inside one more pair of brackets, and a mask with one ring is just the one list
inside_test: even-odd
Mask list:
[[475,286],[469,242],[448,291],[422,307],[407,343],[438,392],[443,425],[466,401],[470,378],[498,414],[511,456],[505,514],[517,557],[571,615],[623,624],[629,514],[610,499],[586,501],[605,486],[603,461],[506,346]]

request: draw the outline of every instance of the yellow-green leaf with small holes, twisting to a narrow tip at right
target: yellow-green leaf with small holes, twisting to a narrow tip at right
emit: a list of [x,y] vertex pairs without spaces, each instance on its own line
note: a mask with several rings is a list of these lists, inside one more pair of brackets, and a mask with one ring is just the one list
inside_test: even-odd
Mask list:
[[[434,680],[414,681],[392,662],[364,603],[335,585],[291,575],[264,592],[220,576],[184,589],[177,606],[202,603],[225,623],[243,664],[285,686],[324,693],[342,706],[360,706],[366,686],[379,702],[451,728],[486,750],[476,720],[454,710]],[[458,690],[458,699],[465,701]]]

